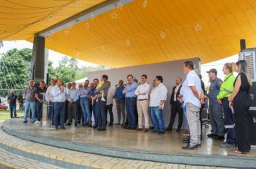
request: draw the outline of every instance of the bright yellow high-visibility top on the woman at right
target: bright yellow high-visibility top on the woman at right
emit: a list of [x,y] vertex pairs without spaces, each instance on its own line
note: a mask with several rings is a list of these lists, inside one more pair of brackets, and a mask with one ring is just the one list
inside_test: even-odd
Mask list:
[[224,82],[221,84],[221,89],[219,90],[219,95],[217,95],[217,100],[221,100],[224,97],[229,97],[234,90],[234,77],[233,73],[227,74]]

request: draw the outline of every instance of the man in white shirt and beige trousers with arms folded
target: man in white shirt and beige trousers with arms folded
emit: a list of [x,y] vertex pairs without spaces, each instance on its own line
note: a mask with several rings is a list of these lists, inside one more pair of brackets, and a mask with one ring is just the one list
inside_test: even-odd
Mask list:
[[145,118],[145,132],[148,132],[149,125],[149,115],[148,115],[148,105],[149,105],[149,92],[150,84],[147,83],[147,75],[142,75],[142,84],[140,84],[135,90],[134,94],[137,95],[137,111],[139,118],[139,126],[136,131],[142,130],[142,116]]

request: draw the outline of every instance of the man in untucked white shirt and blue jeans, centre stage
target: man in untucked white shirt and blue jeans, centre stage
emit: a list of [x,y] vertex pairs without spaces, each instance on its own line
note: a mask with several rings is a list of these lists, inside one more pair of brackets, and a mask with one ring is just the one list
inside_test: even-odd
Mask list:
[[165,100],[167,99],[167,88],[163,85],[163,77],[155,77],[155,89],[150,93],[150,108],[152,116],[152,124],[154,130],[158,134],[165,133],[165,124],[163,121],[163,108],[165,106]]

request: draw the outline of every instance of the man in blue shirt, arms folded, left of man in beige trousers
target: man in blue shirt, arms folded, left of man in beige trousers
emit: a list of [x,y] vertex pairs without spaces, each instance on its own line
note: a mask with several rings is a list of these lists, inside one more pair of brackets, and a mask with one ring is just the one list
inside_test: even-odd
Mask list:
[[123,94],[125,95],[125,107],[127,110],[127,120],[128,125],[127,129],[135,130],[136,126],[136,117],[134,112],[135,105],[135,90],[137,89],[138,84],[134,82],[132,74],[127,76],[127,86],[123,90]]

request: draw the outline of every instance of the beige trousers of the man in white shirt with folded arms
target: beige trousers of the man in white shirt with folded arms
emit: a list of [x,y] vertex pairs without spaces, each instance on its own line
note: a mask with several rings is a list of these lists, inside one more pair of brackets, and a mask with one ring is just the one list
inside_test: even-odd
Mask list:
[[142,128],[142,116],[145,118],[145,128],[149,128],[149,113],[148,113],[148,100],[137,100],[137,111],[138,111],[138,120],[139,120],[139,128]]

